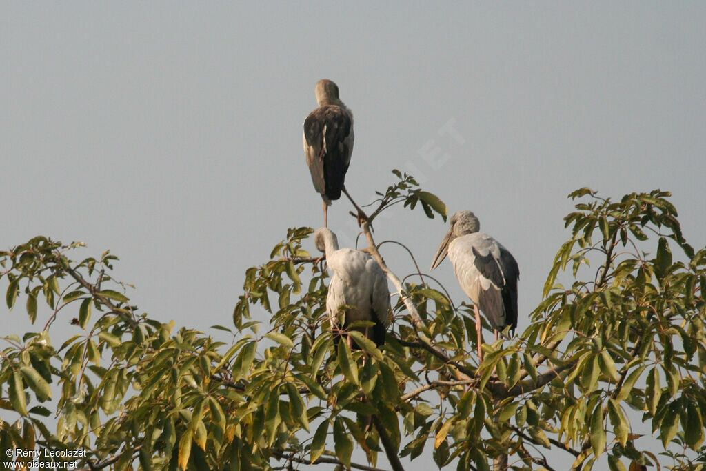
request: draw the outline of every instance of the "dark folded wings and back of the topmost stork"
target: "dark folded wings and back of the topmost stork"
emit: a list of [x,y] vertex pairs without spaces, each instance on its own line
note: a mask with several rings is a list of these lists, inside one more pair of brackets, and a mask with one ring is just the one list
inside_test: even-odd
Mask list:
[[351,126],[349,114],[333,105],[318,107],[304,121],[311,180],[316,191],[329,200],[341,197],[352,151]]

